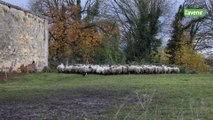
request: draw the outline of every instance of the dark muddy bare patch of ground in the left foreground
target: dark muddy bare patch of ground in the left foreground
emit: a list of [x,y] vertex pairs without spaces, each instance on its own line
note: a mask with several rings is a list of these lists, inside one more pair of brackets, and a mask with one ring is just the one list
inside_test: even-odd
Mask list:
[[[36,100],[8,99],[0,102],[0,120],[113,119],[121,104],[134,104],[132,92],[113,90],[66,90]],[[109,115],[109,110],[114,111]]]

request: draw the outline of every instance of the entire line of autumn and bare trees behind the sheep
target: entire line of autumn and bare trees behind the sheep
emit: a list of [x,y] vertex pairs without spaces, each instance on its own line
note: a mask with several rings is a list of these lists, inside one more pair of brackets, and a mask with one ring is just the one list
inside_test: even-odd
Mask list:
[[[171,31],[165,30],[174,6],[170,0],[33,0],[30,5],[49,20],[51,60],[176,64],[206,71],[200,52],[213,48],[213,1],[185,1]],[[186,18],[184,8],[205,8],[206,16]],[[163,46],[166,34],[171,38]]]

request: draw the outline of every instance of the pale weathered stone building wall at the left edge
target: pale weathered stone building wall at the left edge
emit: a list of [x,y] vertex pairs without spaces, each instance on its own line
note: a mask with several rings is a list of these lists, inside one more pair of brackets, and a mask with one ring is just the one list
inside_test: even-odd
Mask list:
[[48,65],[48,21],[0,0],[0,72],[33,61],[38,71]]

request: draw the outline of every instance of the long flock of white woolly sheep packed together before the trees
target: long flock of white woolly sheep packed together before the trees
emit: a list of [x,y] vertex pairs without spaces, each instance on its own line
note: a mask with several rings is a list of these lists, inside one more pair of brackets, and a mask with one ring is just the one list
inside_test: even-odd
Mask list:
[[60,64],[57,66],[59,73],[80,73],[87,74],[101,74],[101,75],[116,75],[116,74],[171,74],[180,73],[178,67],[168,67],[165,65],[85,65],[76,64],[64,66]]

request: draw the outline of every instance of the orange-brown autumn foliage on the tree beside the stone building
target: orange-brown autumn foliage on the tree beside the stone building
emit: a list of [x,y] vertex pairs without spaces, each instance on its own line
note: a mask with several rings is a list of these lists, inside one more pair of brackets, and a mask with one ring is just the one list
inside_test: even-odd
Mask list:
[[56,17],[52,18],[50,56],[78,56],[81,62],[93,61],[92,54],[101,44],[101,33],[97,27],[88,26],[88,21],[81,19],[81,7],[78,4],[65,6],[60,11],[55,11]]

